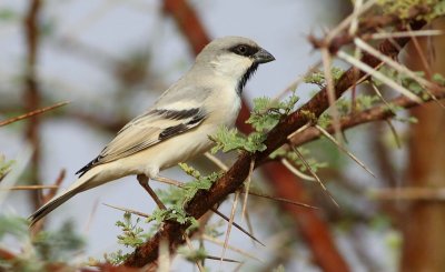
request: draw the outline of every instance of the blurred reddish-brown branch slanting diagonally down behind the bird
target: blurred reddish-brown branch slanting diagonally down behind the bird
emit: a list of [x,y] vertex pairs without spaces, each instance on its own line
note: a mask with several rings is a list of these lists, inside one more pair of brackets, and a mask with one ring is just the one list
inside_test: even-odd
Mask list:
[[[199,20],[197,12],[186,0],[165,0],[164,10],[175,18],[178,28],[187,38],[194,52],[197,54],[210,41],[210,38]],[[249,105],[245,99],[241,100],[241,111],[236,121],[236,127],[244,133],[248,134],[253,131],[250,124],[246,120],[250,115]],[[300,195],[306,194],[306,189],[299,185],[299,179],[291,174],[283,164],[270,163],[264,173],[268,177],[267,182],[275,189],[275,194],[281,199],[293,199],[301,201]],[[281,179],[286,174],[286,179]],[[289,185],[290,184],[290,185]],[[294,187],[291,190],[279,190],[284,187]],[[309,200],[305,200],[309,201]],[[304,215],[301,209],[289,208],[284,205],[285,210],[290,213],[295,222],[295,229],[301,233],[307,241],[308,248],[317,263],[324,271],[348,271],[348,266],[342,254],[338,252],[334,240],[330,235],[329,228],[323,218],[314,212],[307,211]],[[304,218],[304,220],[299,220]],[[314,231],[316,230],[316,231]]]

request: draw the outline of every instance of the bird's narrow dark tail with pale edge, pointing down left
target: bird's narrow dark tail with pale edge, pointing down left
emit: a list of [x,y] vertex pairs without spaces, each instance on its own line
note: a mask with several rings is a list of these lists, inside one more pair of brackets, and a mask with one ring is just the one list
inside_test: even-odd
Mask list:
[[48,213],[52,212],[56,208],[67,202],[77,193],[95,187],[89,184],[89,181],[91,181],[91,179],[93,178],[95,174],[87,173],[86,175],[79,178],[75,183],[72,183],[67,191],[57,194],[44,205],[40,206],[39,210],[37,210],[28,218],[28,220],[30,221],[30,225],[32,226],[33,224],[36,224],[40,219],[44,218]]

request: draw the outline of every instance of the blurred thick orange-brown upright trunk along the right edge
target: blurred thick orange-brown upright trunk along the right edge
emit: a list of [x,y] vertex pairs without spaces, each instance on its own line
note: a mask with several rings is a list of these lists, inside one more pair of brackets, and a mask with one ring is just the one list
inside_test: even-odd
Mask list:
[[[435,23],[445,30],[445,20]],[[433,72],[445,73],[445,38],[433,38],[433,48],[422,40],[425,56],[434,52]],[[431,51],[433,49],[433,51]],[[424,70],[419,54],[409,48],[408,64]],[[445,187],[445,110],[437,104],[413,109],[418,119],[411,128],[407,187]],[[404,248],[402,271],[445,271],[445,204],[434,200],[413,200],[406,209],[403,224]]]

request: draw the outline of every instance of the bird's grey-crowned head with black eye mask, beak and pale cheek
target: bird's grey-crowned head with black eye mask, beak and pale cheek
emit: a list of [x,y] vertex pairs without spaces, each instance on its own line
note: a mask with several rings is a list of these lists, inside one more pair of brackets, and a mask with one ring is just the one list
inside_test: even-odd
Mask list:
[[250,39],[224,37],[207,44],[196,63],[210,69],[217,77],[234,81],[240,93],[258,66],[274,60],[274,56]]

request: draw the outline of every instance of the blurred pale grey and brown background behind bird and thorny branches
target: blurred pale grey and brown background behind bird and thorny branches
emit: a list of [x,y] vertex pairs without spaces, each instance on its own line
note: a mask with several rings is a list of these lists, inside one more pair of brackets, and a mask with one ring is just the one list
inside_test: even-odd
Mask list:
[[[318,61],[319,52],[313,50],[307,36],[336,26],[352,9],[350,1],[343,0],[1,1],[0,119],[59,101],[71,103],[0,128],[0,154],[14,161],[11,174],[16,185],[53,184],[66,170],[61,187],[67,188],[76,180],[75,172],[127,121],[185,73],[208,39],[248,37],[276,57],[247,84],[244,97],[250,104],[256,97],[275,97]],[[435,23],[436,28],[444,24]],[[444,39],[434,38],[427,46],[437,49],[429,60],[432,69],[444,73],[444,50],[438,50],[445,46]],[[404,59],[408,66],[422,70],[416,52],[407,50]],[[314,89],[299,87],[299,103],[307,101]],[[263,191],[320,209],[250,197],[251,225],[267,246],[254,245],[234,230],[229,243],[264,260],[248,260],[244,269],[271,271],[283,264],[288,271],[445,271],[445,143],[441,141],[445,139],[445,113],[436,104],[411,113],[417,123],[395,122],[400,148],[385,122],[346,132],[349,149],[376,179],[326,140],[305,145],[328,163],[319,174],[340,209],[317,184],[298,180],[277,163],[256,171],[254,182]],[[227,164],[235,159],[236,154],[222,157]],[[205,159],[194,165],[202,172],[216,170]],[[189,179],[176,168],[164,175]],[[413,189],[411,194],[393,190],[405,187]],[[1,214],[28,216],[41,199],[40,191],[1,191]],[[136,179],[126,178],[71,199],[48,216],[44,228],[56,229],[72,219],[87,241],[77,259],[102,259],[103,253],[122,248],[115,226],[122,212],[102,203],[146,213],[155,209]],[[229,214],[230,201],[220,211]],[[237,216],[236,221],[241,220]],[[222,233],[225,228],[220,228]],[[13,240],[0,242],[3,248],[18,248]],[[216,245],[208,249],[212,255],[221,251]],[[244,260],[234,252],[226,256]],[[182,264],[178,258],[172,269],[196,269],[192,263]],[[222,269],[218,261],[206,265],[236,268],[225,263]]]

